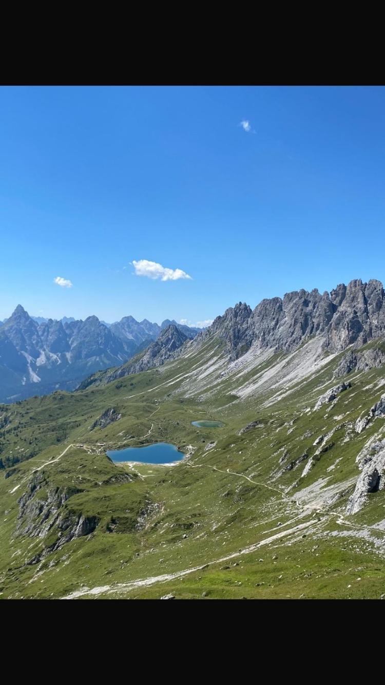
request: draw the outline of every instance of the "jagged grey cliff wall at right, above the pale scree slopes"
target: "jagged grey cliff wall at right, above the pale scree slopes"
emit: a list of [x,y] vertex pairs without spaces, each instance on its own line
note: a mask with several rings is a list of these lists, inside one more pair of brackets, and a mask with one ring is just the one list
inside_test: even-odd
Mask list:
[[323,295],[316,289],[296,290],[283,299],[264,299],[253,311],[239,302],[217,316],[197,343],[212,332],[225,340],[232,360],[255,343],[289,352],[310,336],[323,336],[325,349],[332,352],[360,347],[385,336],[384,288],[380,281],[354,280]]

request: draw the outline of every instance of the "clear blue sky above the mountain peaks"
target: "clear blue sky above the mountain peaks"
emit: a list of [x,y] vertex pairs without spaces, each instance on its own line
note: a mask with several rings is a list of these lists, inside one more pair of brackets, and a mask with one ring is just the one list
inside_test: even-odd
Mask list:
[[0,319],[384,282],[384,115],[382,87],[1,87]]

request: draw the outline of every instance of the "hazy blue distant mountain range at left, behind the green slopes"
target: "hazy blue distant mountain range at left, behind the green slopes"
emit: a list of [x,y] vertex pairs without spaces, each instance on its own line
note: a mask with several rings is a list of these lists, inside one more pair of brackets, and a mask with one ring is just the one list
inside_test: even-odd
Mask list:
[[132,316],[111,325],[97,316],[41,319],[18,305],[0,325],[0,401],[73,390],[90,373],[132,358],[171,323],[188,338],[199,332],[176,321],[158,325]]

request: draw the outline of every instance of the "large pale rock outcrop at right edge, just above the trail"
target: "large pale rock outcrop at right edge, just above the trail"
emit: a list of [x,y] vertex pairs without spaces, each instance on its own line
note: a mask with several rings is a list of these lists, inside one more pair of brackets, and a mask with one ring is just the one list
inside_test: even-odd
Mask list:
[[367,503],[369,493],[385,488],[385,440],[370,440],[358,455],[362,469],[353,495],[349,497],[346,513],[356,514]]

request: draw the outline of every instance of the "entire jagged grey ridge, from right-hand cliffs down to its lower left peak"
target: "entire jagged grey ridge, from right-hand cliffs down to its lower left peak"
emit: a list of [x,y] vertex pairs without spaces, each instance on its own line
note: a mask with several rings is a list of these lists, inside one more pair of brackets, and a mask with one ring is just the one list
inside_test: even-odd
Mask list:
[[[175,322],[164,323],[175,329]],[[181,325],[177,329],[184,332]],[[195,334],[193,340],[188,336],[183,340],[175,335],[175,330],[172,347],[151,345],[147,350],[151,350],[150,355],[142,353],[135,358],[135,364],[94,374],[79,389],[105,385],[118,377],[160,366],[166,360],[199,349],[213,338],[225,343],[228,362],[242,358],[251,348],[291,352],[313,337],[320,338],[321,348],[331,353],[360,347],[375,338],[385,338],[385,292],[382,283],[375,279],[368,283],[356,279],[323,295],[316,288],[311,292],[295,290],[283,299],[264,299],[254,310],[247,303],[238,302]]]

